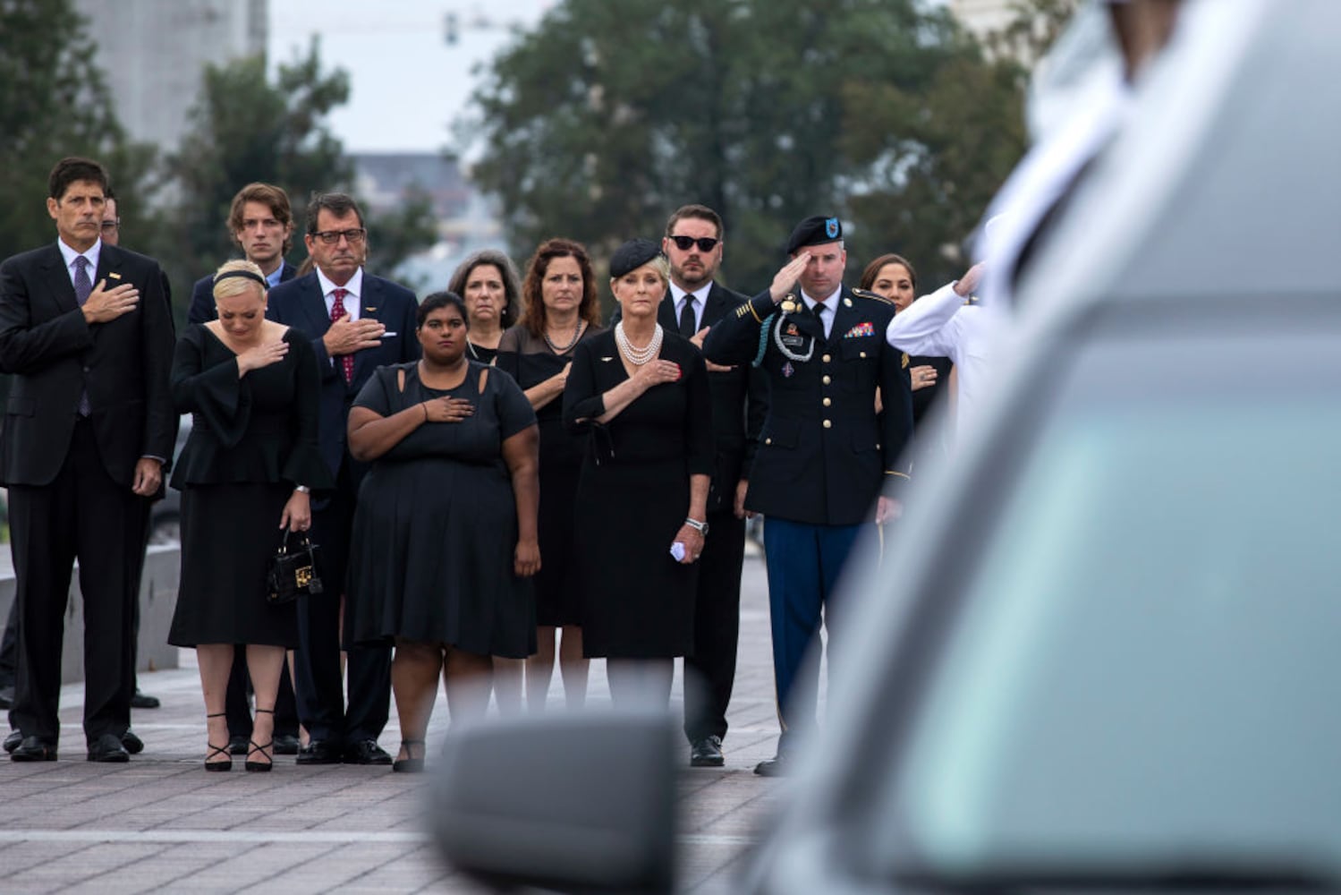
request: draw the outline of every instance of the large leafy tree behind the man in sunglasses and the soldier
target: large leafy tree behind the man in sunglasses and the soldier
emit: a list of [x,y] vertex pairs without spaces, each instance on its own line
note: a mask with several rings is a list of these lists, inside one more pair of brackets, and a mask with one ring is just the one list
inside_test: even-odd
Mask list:
[[754,291],[825,212],[852,266],[953,270],[941,248],[1023,149],[1019,97],[1014,63],[915,0],[563,0],[492,62],[459,133],[520,256],[561,233],[606,254],[701,201],[725,219],[725,279]]

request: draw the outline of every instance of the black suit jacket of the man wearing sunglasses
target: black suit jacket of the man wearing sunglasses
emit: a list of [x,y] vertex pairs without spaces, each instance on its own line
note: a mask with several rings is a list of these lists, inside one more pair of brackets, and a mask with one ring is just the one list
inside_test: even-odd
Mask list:
[[[716,326],[746,301],[748,297],[713,283],[699,317],[699,329]],[[620,307],[616,306],[610,315],[610,326],[618,323],[620,317]],[[657,322],[669,333],[680,331],[680,318],[669,288],[657,306]],[[736,495],[736,483],[750,478],[750,464],[759,441],[759,431],[768,415],[768,382],[748,364],[740,364],[727,372],[709,370],[708,390],[712,394],[715,445],[708,513],[730,511]]]

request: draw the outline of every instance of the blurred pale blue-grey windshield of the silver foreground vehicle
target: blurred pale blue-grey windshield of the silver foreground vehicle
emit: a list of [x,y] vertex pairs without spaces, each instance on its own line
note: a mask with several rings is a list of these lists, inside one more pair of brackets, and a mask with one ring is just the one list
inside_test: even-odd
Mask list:
[[1338,354],[1077,360],[890,784],[919,863],[1341,868]]

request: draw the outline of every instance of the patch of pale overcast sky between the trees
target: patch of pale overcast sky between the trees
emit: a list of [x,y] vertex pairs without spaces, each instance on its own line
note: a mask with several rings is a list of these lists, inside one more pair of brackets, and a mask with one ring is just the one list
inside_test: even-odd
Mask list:
[[[320,35],[320,58],[350,74],[350,101],[331,114],[347,152],[437,152],[477,83],[471,68],[534,25],[552,0],[271,0],[270,60],[290,62]],[[445,20],[456,15],[457,42]]]

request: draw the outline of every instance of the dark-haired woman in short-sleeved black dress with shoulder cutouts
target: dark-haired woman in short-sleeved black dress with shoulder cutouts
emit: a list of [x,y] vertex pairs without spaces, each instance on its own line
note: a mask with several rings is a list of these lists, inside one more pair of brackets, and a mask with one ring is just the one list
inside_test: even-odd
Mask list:
[[418,307],[424,357],[384,366],[349,412],[349,450],[371,463],[354,513],[355,643],[396,644],[394,770],[421,770],[437,678],[453,721],[488,707],[489,656],[535,649],[535,413],[511,377],[465,357],[465,305]]

